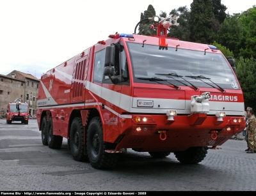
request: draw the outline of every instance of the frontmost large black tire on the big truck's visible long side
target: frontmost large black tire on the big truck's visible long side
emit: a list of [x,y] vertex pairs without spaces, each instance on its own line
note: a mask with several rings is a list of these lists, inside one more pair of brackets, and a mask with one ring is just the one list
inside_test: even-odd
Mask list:
[[95,169],[115,167],[118,160],[118,154],[105,152],[105,149],[111,149],[111,147],[103,141],[103,130],[100,117],[94,117],[90,121],[86,143],[88,157],[92,167]]

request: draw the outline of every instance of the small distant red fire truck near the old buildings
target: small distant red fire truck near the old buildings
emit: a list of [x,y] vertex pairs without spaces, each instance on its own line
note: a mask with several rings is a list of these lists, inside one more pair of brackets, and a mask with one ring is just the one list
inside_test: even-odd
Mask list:
[[21,123],[28,124],[28,103],[21,103],[21,99],[15,100],[15,103],[8,103],[6,123],[12,124],[13,121],[21,121]]

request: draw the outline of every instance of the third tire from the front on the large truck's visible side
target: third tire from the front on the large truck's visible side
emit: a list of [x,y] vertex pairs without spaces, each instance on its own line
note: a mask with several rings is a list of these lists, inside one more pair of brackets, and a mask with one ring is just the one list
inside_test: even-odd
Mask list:
[[49,148],[60,149],[63,137],[60,135],[53,135],[52,117],[49,117],[47,123],[47,143]]

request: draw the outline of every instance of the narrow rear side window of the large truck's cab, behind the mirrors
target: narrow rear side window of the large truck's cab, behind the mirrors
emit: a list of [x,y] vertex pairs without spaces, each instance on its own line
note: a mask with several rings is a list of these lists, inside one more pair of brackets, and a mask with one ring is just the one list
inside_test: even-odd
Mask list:
[[105,63],[105,49],[95,53],[93,82],[102,83]]

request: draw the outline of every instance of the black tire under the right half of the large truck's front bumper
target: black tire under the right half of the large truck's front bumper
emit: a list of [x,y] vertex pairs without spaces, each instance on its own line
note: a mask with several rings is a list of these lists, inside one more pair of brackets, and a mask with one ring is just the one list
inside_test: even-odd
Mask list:
[[189,147],[186,151],[178,151],[175,152],[174,155],[176,156],[177,160],[180,163],[186,164],[195,164],[200,163],[204,160],[207,154],[207,147]]

